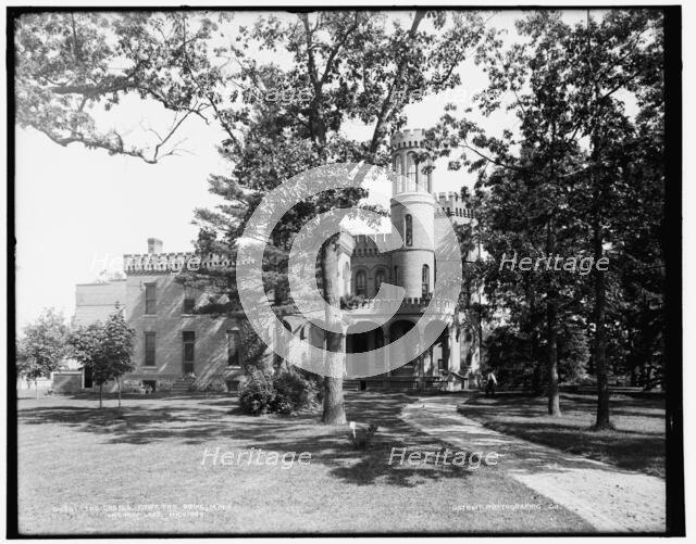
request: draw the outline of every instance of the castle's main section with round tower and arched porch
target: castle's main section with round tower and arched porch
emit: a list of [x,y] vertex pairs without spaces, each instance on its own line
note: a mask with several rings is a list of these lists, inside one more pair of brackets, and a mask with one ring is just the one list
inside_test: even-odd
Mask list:
[[[475,387],[474,377],[480,367],[480,346],[474,334],[461,330],[457,325],[455,304],[438,307],[437,319],[440,324],[421,324],[421,318],[431,303],[436,280],[437,263],[435,244],[443,240],[443,233],[451,229],[452,224],[474,220],[460,195],[455,192],[433,192],[433,168],[430,160],[420,161],[424,151],[424,132],[421,129],[397,132],[391,139],[391,168],[398,174],[393,184],[390,200],[390,222],[402,240],[398,249],[380,252],[377,241],[387,242],[388,233],[358,235],[352,240],[341,239],[338,250],[339,267],[343,267],[339,281],[344,283],[344,294],[361,299],[353,316],[364,321],[373,319],[368,327],[357,322],[353,329],[366,332],[351,333],[347,330],[346,351],[348,353],[371,352],[389,345],[413,327],[435,327],[444,330],[437,341],[417,359],[383,374],[360,379],[346,380],[346,389],[358,390],[458,390]],[[350,237],[344,237],[350,238]],[[380,240],[382,238],[382,240]],[[351,243],[352,242],[352,243]],[[467,256],[467,261],[476,258],[477,250]],[[405,301],[394,316],[377,326],[374,322],[373,305],[383,282],[403,288]],[[383,320],[380,319],[380,320]],[[322,334],[303,318],[285,318],[287,329],[314,345],[322,345]],[[301,357],[298,353],[296,356]],[[390,352],[389,356],[399,357]],[[386,362],[382,364],[387,367]],[[378,368],[380,362],[374,362]]]

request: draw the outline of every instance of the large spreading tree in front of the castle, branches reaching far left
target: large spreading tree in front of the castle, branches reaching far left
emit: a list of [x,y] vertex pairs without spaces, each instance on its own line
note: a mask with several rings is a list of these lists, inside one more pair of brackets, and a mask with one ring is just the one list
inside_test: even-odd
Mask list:
[[[156,163],[177,153],[174,134],[187,118],[217,122],[225,134],[221,153],[234,167],[231,176],[212,177],[211,189],[229,203],[198,219],[201,239],[228,254],[261,195],[283,179],[326,163],[385,164],[387,138],[405,125],[409,97],[460,84],[456,68],[486,34],[475,12],[418,11],[391,24],[383,13],[361,11],[268,15],[234,35],[229,14],[214,18],[187,12],[23,16],[16,24],[17,123],[62,146],[79,142]],[[217,39],[224,30],[229,41]],[[260,64],[250,50],[282,51],[291,60],[284,68]],[[246,89],[309,89],[311,98],[239,104]],[[128,93],[174,112],[171,129],[154,131],[146,146],[100,129],[100,110]],[[343,136],[346,122],[366,126],[368,139]],[[352,206],[361,195],[336,191],[296,206],[274,240],[278,250],[308,217]],[[320,265],[324,298],[337,307],[337,286],[327,281],[336,273],[332,244],[324,244]],[[282,277],[282,266],[276,274]],[[231,305],[233,277],[234,270],[221,280]],[[325,339],[330,359],[345,353],[344,334],[327,332]],[[345,422],[340,378],[325,379],[323,420]]]

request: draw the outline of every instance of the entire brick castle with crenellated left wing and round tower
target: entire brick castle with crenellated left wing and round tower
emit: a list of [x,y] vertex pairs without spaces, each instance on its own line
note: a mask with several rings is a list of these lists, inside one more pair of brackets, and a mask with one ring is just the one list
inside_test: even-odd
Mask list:
[[[413,327],[435,326],[420,322],[436,281],[435,243],[444,238],[442,233],[450,229],[452,223],[474,220],[472,211],[457,193],[432,191],[432,164],[419,161],[424,150],[422,130],[398,132],[391,144],[391,167],[399,176],[393,185],[390,222],[402,245],[381,253],[376,244],[378,237],[386,241],[390,235],[351,237],[344,232],[336,251],[343,294],[360,300],[352,312],[358,318],[362,313],[364,320],[374,319],[371,303],[383,282],[403,288],[406,298],[395,315],[385,316],[388,320],[383,325],[368,332],[347,330],[349,353],[388,346]],[[473,258],[475,255],[468,260]],[[162,242],[150,238],[147,253],[124,255],[125,279],[76,287],[74,322],[103,321],[119,303],[128,325],[136,331],[136,369],[125,380],[152,390],[175,392],[187,391],[194,380],[203,385],[216,382],[219,387],[234,390],[243,375],[239,328],[243,315],[197,313],[198,307],[216,301],[211,301],[211,293],[178,281],[183,270],[228,266],[225,257],[217,255],[164,253]],[[425,353],[400,368],[366,379],[348,379],[346,388],[456,390],[473,385],[471,378],[478,370],[478,346],[457,327],[456,318],[453,303],[438,307],[437,319],[444,330]],[[323,331],[303,316],[286,316],[283,325],[307,342],[323,345]],[[398,354],[390,353],[390,356]],[[381,363],[374,363],[378,368]],[[67,381],[63,377],[63,381],[73,389],[94,385],[85,372],[82,378],[71,376]]]

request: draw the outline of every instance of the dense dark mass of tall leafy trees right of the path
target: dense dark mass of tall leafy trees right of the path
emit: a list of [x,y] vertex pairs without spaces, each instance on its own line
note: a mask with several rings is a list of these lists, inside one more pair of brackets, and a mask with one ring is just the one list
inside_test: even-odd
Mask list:
[[[608,368],[631,351],[639,353],[633,368],[636,360],[659,362],[651,351],[660,350],[663,308],[639,316],[649,315],[646,299],[660,306],[663,292],[661,13],[588,10],[569,24],[560,12],[534,11],[517,30],[520,40],[492,42],[477,58],[489,75],[477,105],[484,115],[513,111],[519,128],[493,137],[451,107],[433,138],[443,155],[462,150],[453,167],[480,172],[476,233],[493,257],[480,281],[530,349],[544,346],[549,409],[560,414],[559,336],[580,319],[591,332],[600,388],[597,422],[608,425]],[[625,97],[635,99],[637,113]],[[515,251],[532,258],[606,256],[610,269],[584,278],[498,269],[502,255]],[[643,345],[636,326],[649,339]]]

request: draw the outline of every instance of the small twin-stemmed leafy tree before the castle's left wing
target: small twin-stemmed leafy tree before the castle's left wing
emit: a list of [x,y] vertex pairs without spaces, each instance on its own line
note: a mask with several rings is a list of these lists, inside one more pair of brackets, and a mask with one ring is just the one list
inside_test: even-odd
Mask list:
[[73,356],[99,384],[99,408],[103,406],[103,384],[115,380],[121,413],[121,377],[135,369],[130,360],[135,330],[127,326],[123,309],[116,305],[109,319],[75,329],[70,337]]

